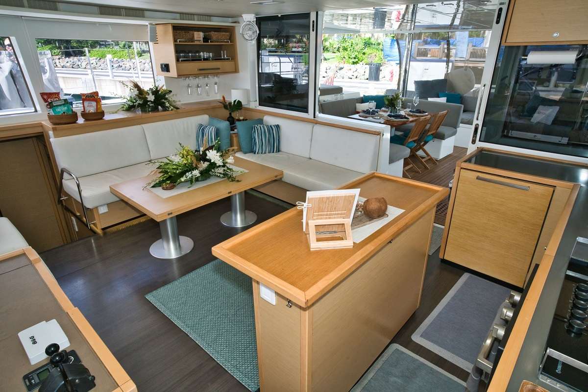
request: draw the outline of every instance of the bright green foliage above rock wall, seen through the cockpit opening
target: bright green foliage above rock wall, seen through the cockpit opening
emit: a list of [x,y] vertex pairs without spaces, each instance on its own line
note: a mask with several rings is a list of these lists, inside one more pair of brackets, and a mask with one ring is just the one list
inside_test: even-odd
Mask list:
[[383,42],[372,37],[345,36],[336,46],[328,42],[329,48],[336,49],[337,61],[346,64],[383,63]]

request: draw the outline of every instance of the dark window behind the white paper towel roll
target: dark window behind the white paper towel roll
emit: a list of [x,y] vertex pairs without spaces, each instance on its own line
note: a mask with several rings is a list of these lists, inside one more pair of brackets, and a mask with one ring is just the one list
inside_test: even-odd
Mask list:
[[588,157],[586,45],[503,46],[480,141]]

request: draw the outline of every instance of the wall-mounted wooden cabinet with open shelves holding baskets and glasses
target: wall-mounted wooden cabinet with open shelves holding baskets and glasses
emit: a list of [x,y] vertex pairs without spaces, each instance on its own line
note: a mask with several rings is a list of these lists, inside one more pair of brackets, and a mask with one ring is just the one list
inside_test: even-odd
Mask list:
[[156,28],[153,56],[159,76],[239,72],[235,26],[159,24]]

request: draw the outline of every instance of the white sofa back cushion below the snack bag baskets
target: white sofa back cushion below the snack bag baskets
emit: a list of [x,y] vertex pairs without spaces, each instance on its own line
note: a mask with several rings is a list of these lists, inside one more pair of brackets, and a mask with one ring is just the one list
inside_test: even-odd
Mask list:
[[151,156],[141,125],[51,139],[59,169],[78,177],[146,162]]

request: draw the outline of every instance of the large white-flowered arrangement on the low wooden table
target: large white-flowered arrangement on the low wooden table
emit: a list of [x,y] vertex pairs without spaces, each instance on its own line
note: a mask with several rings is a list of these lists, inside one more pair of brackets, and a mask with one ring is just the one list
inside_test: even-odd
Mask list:
[[235,159],[229,155],[229,150],[220,150],[220,139],[212,146],[202,146],[200,150],[192,150],[179,143],[180,148],[175,155],[149,162],[157,165],[159,176],[149,181],[145,187],[159,187],[163,190],[173,189],[182,182],[190,185],[198,181],[207,180],[212,176],[226,178],[230,182],[239,181],[235,178],[240,172],[229,166]]

